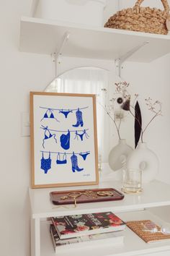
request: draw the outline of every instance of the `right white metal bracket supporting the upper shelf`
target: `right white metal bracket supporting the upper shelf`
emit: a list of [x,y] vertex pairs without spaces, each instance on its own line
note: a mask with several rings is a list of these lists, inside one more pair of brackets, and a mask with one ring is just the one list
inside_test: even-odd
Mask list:
[[143,46],[146,46],[146,44],[148,44],[149,42],[143,42],[141,43],[139,46],[136,46],[135,48],[133,48],[132,50],[128,51],[128,53],[120,56],[120,58],[115,59],[115,67],[118,70],[118,75],[119,77],[121,77],[121,70],[122,70],[122,64],[128,59],[130,58],[130,56],[132,56],[136,51],[138,51],[140,48],[142,48]]

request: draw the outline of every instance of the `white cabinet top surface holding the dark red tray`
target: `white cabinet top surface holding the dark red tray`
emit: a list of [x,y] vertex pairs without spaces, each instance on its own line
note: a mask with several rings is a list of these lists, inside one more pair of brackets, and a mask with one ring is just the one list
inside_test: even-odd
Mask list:
[[[121,190],[118,182],[104,182],[99,186],[84,186],[84,189],[114,187]],[[125,195],[123,200],[108,202],[90,202],[79,204],[77,208],[58,208],[50,202],[51,191],[82,189],[82,187],[30,189],[30,202],[32,218],[48,218],[52,216],[64,216],[70,214],[98,213],[108,210],[114,213],[123,211],[140,210],[163,205],[170,205],[170,186],[163,182],[154,181],[143,187],[141,195]],[[161,191],[161,193],[159,192]],[[73,205],[70,205],[73,207]]]

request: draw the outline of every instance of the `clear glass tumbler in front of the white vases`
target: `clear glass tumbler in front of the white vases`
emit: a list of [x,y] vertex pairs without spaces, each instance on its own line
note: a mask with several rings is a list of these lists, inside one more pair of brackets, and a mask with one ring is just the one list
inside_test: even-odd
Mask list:
[[125,169],[122,177],[122,191],[129,194],[142,192],[142,170]]

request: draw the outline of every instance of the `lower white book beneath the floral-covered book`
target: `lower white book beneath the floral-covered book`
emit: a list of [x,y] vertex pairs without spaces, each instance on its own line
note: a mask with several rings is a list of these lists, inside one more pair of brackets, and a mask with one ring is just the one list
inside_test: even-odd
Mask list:
[[50,224],[50,234],[55,252],[63,252],[68,249],[84,247],[104,247],[110,245],[122,245],[124,240],[123,231],[78,236],[68,239],[60,239],[53,224]]

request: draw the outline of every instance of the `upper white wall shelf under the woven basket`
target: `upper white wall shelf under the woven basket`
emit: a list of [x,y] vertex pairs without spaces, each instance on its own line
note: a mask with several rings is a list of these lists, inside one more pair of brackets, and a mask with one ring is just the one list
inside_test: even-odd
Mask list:
[[148,42],[146,46],[135,52],[130,61],[150,62],[170,52],[170,35],[89,27],[32,17],[21,19],[20,51],[53,54],[61,48],[66,33],[70,36],[63,47],[63,56],[113,60],[145,42]]

